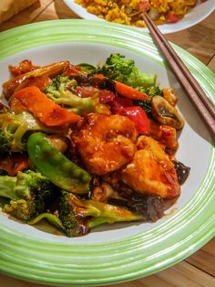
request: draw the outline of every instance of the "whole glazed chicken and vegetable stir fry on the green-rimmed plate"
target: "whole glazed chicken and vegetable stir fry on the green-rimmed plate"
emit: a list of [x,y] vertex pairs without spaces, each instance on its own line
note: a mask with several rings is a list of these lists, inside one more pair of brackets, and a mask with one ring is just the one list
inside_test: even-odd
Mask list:
[[[180,195],[184,120],[156,74],[111,54],[100,66],[9,66],[0,109],[0,202],[68,237],[119,221],[155,222]],[[5,102],[5,103],[3,103]]]

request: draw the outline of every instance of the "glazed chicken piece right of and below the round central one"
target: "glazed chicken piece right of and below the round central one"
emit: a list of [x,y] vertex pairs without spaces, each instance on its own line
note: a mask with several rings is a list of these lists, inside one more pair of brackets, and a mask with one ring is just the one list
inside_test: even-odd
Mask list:
[[132,162],[122,170],[121,180],[141,194],[178,197],[178,177],[165,146],[145,135],[138,138],[137,146]]

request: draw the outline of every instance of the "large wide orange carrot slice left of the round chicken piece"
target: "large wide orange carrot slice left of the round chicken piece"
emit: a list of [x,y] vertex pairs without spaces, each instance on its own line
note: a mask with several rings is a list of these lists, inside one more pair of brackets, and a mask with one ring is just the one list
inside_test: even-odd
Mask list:
[[[20,104],[13,104],[15,99]],[[61,127],[80,120],[76,113],[68,112],[66,109],[61,108],[34,86],[15,91],[11,106],[13,109],[15,109],[15,106],[19,109],[23,106],[27,112],[31,112],[39,122],[44,123],[48,127]]]

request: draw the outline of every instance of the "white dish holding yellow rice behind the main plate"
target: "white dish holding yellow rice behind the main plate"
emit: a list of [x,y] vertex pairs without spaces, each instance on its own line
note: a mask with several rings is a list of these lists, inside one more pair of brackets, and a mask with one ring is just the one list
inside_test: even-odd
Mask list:
[[[75,0],[64,0],[64,2],[75,14],[77,14],[77,16],[80,16],[81,18],[105,21],[104,19],[94,14],[88,13],[87,9],[82,7],[81,5],[77,5]],[[86,0],[86,3],[87,2],[88,1]],[[99,5],[99,0],[97,1],[97,5]],[[180,19],[179,22],[160,25],[159,29],[163,34],[174,33],[187,29],[200,23],[207,16],[209,16],[214,9],[215,9],[215,0],[207,0],[206,2],[198,1],[198,5],[190,9],[189,13],[186,14],[182,19]]]

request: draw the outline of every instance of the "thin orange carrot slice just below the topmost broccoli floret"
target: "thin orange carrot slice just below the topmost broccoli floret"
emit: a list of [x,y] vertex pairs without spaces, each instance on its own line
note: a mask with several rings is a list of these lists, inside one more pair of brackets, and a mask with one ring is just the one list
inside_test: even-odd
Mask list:
[[[100,75],[100,74],[96,74],[94,76],[97,79],[107,78],[107,77]],[[148,95],[146,93],[141,92],[139,90],[136,90],[134,88],[131,88],[128,85],[119,82],[118,80],[114,80],[114,82],[116,83],[116,90],[120,96],[131,99],[131,100],[151,101],[151,99],[148,97]]]

